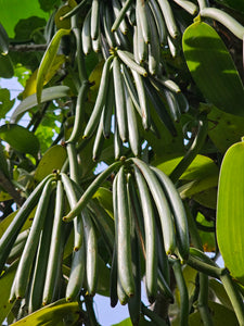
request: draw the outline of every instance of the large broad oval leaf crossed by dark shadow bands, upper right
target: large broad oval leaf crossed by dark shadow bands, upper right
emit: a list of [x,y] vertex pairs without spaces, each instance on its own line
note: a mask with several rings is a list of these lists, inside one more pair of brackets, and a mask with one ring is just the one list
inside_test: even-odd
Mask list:
[[223,41],[209,25],[196,22],[183,34],[183,52],[194,82],[218,109],[244,116],[244,88]]

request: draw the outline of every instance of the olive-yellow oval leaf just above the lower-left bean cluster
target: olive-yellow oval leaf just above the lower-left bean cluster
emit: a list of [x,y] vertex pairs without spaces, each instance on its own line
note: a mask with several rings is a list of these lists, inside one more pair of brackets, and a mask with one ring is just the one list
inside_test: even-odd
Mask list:
[[66,158],[67,152],[63,146],[55,145],[51,147],[40,160],[35,173],[35,179],[41,181],[53,170],[61,170]]

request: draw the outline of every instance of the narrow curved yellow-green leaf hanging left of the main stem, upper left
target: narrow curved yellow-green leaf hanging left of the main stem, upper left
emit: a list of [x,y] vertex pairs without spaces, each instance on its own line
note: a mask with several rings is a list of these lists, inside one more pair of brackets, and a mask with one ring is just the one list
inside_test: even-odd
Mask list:
[[49,43],[48,49],[46,50],[43,58],[41,60],[38,73],[37,73],[37,102],[41,102],[41,92],[44,85],[44,80],[47,79],[47,75],[51,70],[56,53],[60,47],[61,38],[70,33],[69,29],[59,29],[56,34],[53,36],[51,42]]

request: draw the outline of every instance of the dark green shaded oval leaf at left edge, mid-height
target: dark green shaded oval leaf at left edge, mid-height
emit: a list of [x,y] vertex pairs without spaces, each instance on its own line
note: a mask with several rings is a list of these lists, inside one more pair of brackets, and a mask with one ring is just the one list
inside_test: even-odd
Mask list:
[[36,156],[40,148],[39,140],[33,133],[15,124],[1,126],[0,138],[7,141],[15,150],[23,153],[29,153],[34,156]]

